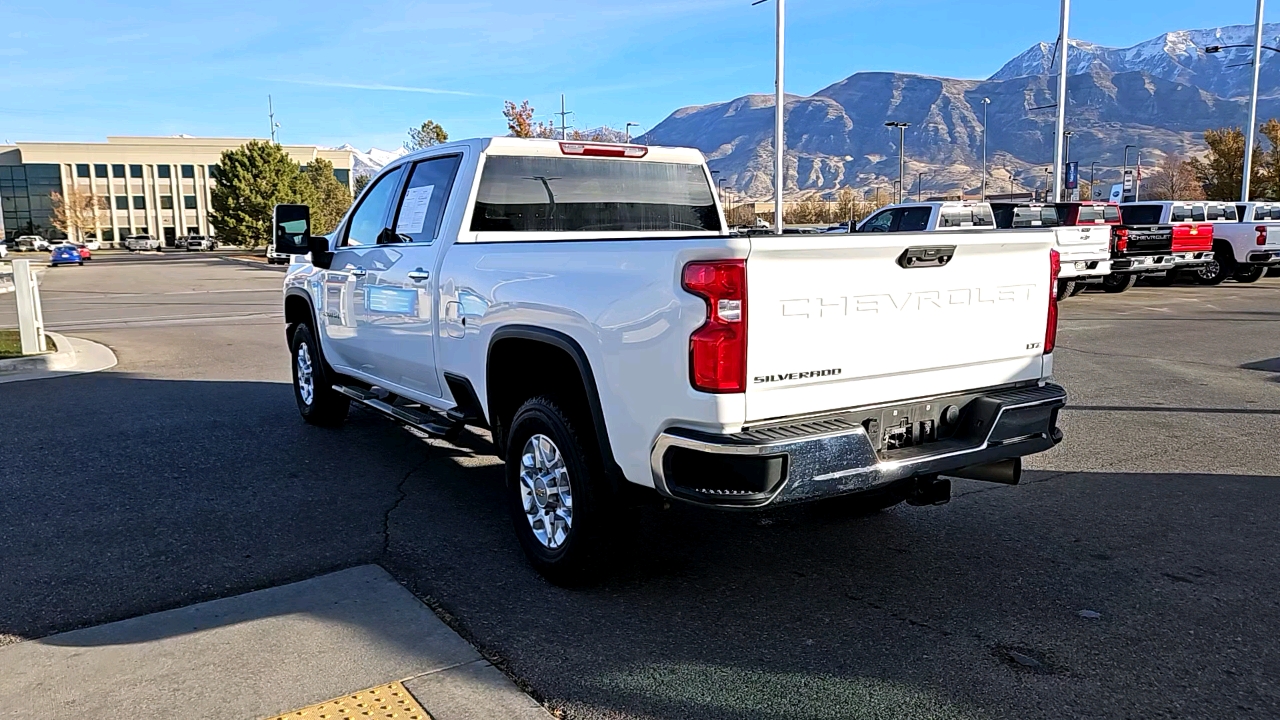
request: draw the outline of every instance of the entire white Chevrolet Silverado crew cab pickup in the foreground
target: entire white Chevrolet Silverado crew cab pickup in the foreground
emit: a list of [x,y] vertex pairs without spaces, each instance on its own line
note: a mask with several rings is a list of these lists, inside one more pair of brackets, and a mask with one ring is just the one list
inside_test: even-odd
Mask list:
[[273,225],[302,418],[488,428],[557,582],[636,495],[933,505],[1062,437],[1048,231],[739,237],[696,150],[506,137],[397,159],[329,237]]

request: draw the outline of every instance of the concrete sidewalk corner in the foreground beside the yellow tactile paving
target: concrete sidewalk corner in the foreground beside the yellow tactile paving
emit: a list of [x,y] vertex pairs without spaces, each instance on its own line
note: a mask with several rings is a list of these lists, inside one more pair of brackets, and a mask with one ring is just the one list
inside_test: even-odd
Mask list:
[[434,720],[550,717],[375,565],[0,648],[0,716],[28,720],[269,717],[388,687]]

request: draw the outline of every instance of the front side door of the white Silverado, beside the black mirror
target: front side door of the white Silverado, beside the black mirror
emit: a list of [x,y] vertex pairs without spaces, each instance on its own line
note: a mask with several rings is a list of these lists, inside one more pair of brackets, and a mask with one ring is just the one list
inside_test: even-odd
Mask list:
[[374,370],[369,347],[361,337],[369,329],[366,290],[370,273],[385,264],[378,238],[390,232],[388,217],[403,177],[404,169],[396,168],[374,179],[342,228],[333,263],[324,272],[319,299],[321,332],[324,351],[333,365],[360,373]]

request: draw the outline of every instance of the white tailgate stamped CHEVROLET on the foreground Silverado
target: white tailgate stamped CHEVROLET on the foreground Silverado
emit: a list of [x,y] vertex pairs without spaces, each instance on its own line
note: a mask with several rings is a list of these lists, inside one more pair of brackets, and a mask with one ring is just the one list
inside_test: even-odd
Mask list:
[[[1053,242],[1047,228],[753,237],[748,423],[1038,379]],[[950,260],[908,264],[922,247]]]

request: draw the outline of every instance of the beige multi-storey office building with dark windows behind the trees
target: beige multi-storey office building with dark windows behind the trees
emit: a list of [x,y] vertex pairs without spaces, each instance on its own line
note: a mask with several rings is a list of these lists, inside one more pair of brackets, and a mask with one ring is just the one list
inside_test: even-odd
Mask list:
[[[106,142],[18,142],[0,145],[0,237],[63,238],[51,222],[54,192],[67,188],[102,197],[106,210],[88,234],[113,243],[151,234],[172,245],[184,234],[216,234],[209,224],[210,190],[224,150],[248,138],[108,137]],[[351,152],[315,145],[285,145],[301,165],[333,163],[351,187]]]

